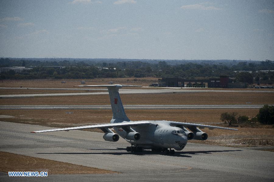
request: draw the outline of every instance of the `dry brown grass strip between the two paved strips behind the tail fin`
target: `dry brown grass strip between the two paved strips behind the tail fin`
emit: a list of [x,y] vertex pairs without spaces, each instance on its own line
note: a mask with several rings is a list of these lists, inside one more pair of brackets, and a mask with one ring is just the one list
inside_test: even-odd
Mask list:
[[[36,90],[35,90],[36,91]],[[185,92],[161,94],[120,94],[125,105],[159,104],[159,105],[244,105],[274,104],[274,92]],[[44,96],[1,98],[1,105],[109,105],[109,96]]]

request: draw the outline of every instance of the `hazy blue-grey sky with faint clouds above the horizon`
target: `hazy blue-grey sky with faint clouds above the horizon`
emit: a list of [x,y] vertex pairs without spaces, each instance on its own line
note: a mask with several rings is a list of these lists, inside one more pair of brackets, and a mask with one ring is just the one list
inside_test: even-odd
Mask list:
[[274,0],[1,0],[0,56],[274,61]]

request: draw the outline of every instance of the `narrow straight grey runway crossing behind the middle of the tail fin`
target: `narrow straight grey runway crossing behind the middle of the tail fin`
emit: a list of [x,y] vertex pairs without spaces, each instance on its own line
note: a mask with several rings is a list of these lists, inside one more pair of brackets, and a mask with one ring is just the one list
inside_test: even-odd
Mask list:
[[[124,105],[125,109],[258,109],[263,105]],[[111,109],[111,105],[0,105],[0,109]]]

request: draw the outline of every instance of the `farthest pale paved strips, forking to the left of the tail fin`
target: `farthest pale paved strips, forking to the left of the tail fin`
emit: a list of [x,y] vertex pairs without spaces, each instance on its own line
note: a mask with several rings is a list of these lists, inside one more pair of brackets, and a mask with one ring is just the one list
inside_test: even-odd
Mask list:
[[[108,94],[107,89],[56,89],[56,88],[6,88],[0,87],[0,89],[41,89],[41,90],[104,90],[105,92],[85,92],[85,93],[44,93],[44,94],[6,94],[0,95],[0,98],[11,98],[11,97],[35,97],[35,96],[70,96],[70,95],[99,95]],[[169,89],[119,89],[120,94],[145,94],[145,93],[183,93],[183,92],[264,92],[274,93],[269,90],[207,90],[207,89],[180,89],[180,88],[169,88]]]

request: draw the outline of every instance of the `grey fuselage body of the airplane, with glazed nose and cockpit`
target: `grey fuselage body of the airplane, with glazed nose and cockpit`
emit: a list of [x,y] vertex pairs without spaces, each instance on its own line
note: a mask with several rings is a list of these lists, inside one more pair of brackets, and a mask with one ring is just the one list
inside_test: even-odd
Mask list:
[[[111,123],[121,121],[111,120]],[[127,131],[123,128],[114,127],[118,135],[124,138],[127,142],[138,145],[143,149],[156,148],[174,148],[176,150],[184,149],[188,142],[188,138],[182,128],[170,126],[170,121],[149,121],[152,123],[149,126],[135,126],[131,127],[134,131],[141,135],[139,140],[126,139]],[[174,134],[172,131],[180,131]]]

